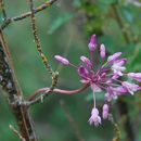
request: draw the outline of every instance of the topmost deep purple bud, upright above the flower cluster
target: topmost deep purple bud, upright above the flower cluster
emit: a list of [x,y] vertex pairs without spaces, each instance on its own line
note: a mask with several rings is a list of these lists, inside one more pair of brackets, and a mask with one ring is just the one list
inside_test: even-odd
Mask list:
[[97,37],[95,35],[91,36],[90,42],[88,44],[90,51],[94,51],[97,48]]

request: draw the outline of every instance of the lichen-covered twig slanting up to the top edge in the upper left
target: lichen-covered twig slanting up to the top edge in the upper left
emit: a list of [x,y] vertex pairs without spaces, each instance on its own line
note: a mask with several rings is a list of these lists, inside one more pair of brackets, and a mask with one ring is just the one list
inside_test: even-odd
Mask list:
[[[36,14],[36,13],[51,7],[55,1],[56,0],[49,0],[49,1],[44,2],[43,4],[41,4],[38,8],[34,9],[34,13]],[[29,17],[30,15],[31,15],[31,12],[26,12],[26,13],[21,14],[20,16],[8,17],[7,21],[1,25],[1,29],[4,29],[12,22],[24,20],[26,17]]]

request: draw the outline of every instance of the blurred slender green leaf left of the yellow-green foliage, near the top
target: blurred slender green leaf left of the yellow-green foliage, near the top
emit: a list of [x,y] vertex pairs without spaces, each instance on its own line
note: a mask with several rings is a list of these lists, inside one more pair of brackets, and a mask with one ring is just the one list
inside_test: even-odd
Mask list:
[[50,29],[48,30],[48,34],[53,34],[55,30],[57,30],[63,24],[65,24],[67,21],[69,21],[72,17],[74,17],[74,14],[72,13],[65,13],[60,15],[51,25]]

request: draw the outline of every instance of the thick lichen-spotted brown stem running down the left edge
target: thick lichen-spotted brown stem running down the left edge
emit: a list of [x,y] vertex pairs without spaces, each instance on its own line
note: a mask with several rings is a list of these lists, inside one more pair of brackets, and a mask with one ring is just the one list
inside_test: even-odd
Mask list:
[[9,52],[8,44],[3,37],[3,33],[0,29],[0,75],[2,76],[2,81],[0,85],[3,90],[8,93],[9,105],[15,116],[17,126],[20,128],[20,134],[26,141],[38,141],[33,121],[30,119],[28,107],[25,104],[23,93],[18,87],[17,79],[14,74],[14,68],[11,60],[11,54]]

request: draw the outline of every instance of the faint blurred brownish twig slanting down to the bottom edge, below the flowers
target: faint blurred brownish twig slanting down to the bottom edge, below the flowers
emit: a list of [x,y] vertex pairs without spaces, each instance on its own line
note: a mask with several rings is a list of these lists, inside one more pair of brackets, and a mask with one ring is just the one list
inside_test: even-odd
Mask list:
[[72,128],[72,130],[74,131],[76,138],[78,141],[85,141],[84,138],[81,137],[80,130],[77,127],[77,124],[75,121],[75,119],[73,118],[73,116],[70,115],[69,111],[66,108],[65,106],[65,102],[63,100],[60,101],[61,107],[64,111],[66,118],[69,123],[69,126]]

